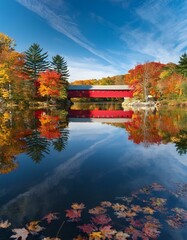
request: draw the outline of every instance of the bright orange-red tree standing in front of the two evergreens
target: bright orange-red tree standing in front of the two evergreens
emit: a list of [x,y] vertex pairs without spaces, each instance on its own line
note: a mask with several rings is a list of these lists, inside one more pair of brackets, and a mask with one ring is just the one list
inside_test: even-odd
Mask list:
[[46,70],[39,74],[37,83],[38,93],[42,97],[50,98],[59,98],[60,97],[60,79],[61,75],[56,71]]

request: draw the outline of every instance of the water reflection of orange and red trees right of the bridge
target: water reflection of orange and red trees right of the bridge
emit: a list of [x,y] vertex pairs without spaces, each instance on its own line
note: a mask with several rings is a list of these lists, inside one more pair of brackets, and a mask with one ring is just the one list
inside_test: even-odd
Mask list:
[[187,153],[187,113],[182,109],[135,111],[131,122],[112,125],[125,128],[136,144],[174,143],[179,154]]

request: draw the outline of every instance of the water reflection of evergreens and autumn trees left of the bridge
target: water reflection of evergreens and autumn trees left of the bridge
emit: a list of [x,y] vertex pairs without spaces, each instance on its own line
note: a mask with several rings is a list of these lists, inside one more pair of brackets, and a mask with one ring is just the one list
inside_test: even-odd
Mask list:
[[35,162],[65,149],[69,131],[65,110],[4,111],[0,113],[0,173],[16,169],[16,156],[26,153]]

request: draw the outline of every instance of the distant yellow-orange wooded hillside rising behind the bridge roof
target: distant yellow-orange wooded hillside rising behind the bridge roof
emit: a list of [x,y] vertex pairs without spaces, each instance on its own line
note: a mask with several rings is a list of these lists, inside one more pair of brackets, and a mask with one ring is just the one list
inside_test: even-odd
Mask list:
[[101,79],[76,80],[72,85],[123,85],[125,84],[125,75],[116,75]]

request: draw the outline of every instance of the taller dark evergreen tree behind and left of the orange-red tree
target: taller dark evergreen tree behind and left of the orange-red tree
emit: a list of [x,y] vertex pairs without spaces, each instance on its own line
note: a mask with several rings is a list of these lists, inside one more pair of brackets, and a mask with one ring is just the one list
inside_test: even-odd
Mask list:
[[25,52],[25,72],[28,74],[31,80],[38,78],[39,72],[45,71],[49,66],[47,62],[47,52],[42,53],[43,48],[38,44],[32,44]]

